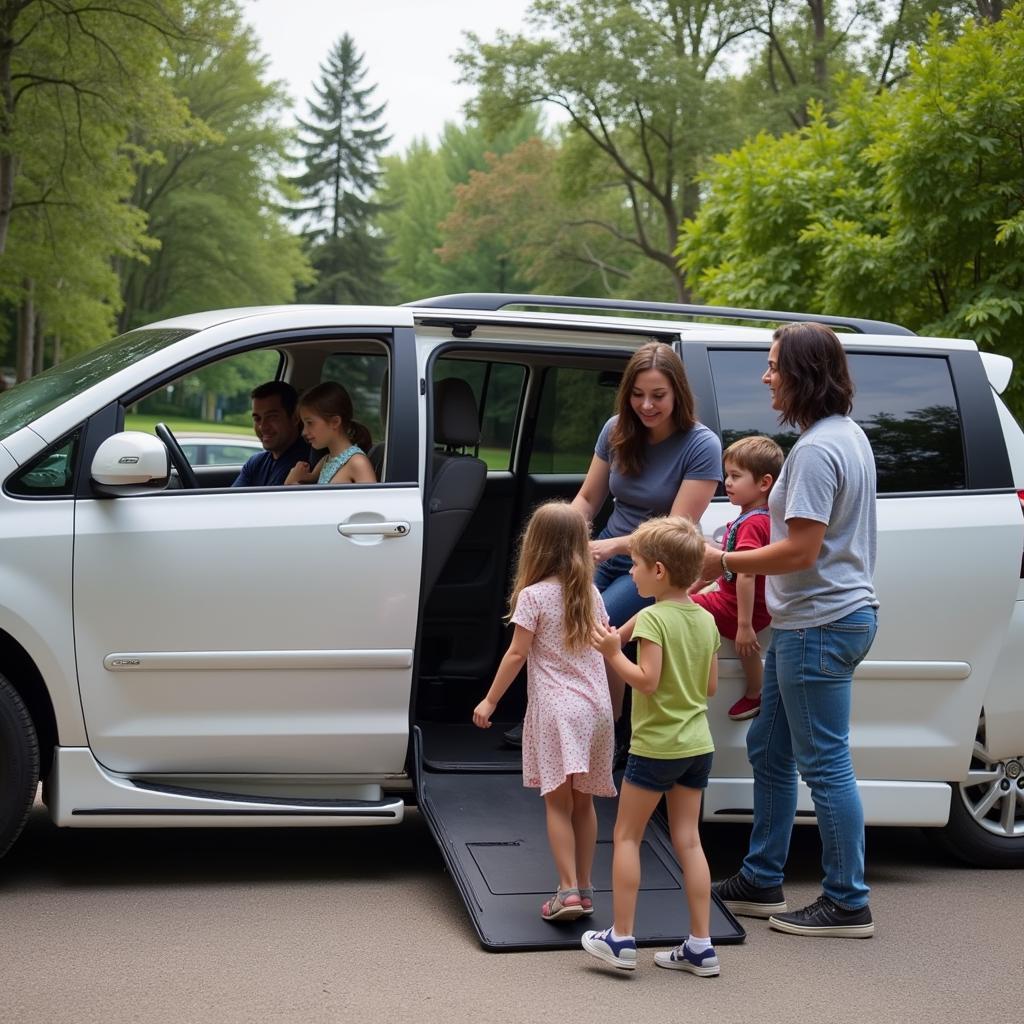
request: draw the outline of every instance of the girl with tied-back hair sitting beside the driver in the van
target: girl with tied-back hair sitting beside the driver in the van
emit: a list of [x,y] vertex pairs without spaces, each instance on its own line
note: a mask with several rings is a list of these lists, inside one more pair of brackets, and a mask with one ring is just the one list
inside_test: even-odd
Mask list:
[[313,449],[327,449],[316,465],[297,462],[285,483],[376,483],[367,458],[370,431],[352,418],[352,399],[334,381],[311,387],[299,399],[302,436]]

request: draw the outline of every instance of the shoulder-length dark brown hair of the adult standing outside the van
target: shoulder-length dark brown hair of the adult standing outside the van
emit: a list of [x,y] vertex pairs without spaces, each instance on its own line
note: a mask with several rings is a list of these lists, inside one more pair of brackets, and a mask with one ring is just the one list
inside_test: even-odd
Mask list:
[[778,342],[779,423],[806,430],[826,416],[849,416],[853,381],[836,332],[823,324],[786,324]]

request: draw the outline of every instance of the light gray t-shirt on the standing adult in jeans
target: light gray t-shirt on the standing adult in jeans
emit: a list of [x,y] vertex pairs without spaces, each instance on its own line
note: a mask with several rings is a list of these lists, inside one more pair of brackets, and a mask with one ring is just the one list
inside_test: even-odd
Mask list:
[[829,416],[800,435],[768,508],[772,541],[788,535],[788,519],[827,524],[821,552],[809,569],[766,579],[773,627],[810,629],[858,608],[878,607],[871,584],[878,539],[874,456],[853,420]]

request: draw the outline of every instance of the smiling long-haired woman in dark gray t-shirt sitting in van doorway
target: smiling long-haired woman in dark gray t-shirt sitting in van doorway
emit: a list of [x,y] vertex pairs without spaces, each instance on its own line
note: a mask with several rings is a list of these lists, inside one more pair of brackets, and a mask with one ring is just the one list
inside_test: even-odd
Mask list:
[[699,523],[722,479],[722,444],[697,422],[682,360],[662,342],[637,349],[626,365],[615,409],[572,505],[593,521],[609,494],[613,499],[590,550],[608,618],[623,626],[650,603],[630,575],[630,534],[658,515]]

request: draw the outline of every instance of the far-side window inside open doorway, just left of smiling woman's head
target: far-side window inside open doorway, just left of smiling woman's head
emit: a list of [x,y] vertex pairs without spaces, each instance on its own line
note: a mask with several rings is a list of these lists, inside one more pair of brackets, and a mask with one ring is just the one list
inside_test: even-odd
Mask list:
[[586,473],[594,442],[614,412],[618,374],[551,367],[541,386],[529,472]]

